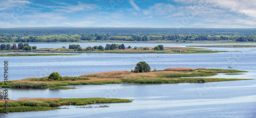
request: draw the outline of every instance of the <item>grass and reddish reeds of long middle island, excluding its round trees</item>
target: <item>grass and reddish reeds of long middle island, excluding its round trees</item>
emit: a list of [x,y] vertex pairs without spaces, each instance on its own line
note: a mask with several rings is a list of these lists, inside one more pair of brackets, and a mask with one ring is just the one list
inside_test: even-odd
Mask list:
[[[0,87],[10,88],[49,88],[50,90],[71,89],[67,85],[107,84],[107,83],[202,83],[215,81],[233,81],[250,79],[225,79],[209,78],[218,73],[241,73],[247,71],[224,70],[224,69],[191,69],[191,68],[166,68],[165,70],[151,71],[146,73],[134,73],[129,71],[113,71],[85,74],[80,77],[62,77],[61,80],[50,80],[48,77],[27,78],[22,80],[8,81],[5,85],[0,82]],[[233,75],[230,75],[233,76]],[[186,78],[182,78],[186,77]],[[205,77],[205,78],[189,78]]]

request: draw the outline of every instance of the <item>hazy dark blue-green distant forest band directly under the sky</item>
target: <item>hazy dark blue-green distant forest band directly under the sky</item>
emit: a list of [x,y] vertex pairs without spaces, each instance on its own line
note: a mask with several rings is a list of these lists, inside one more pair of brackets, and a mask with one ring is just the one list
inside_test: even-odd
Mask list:
[[[95,34],[255,36],[256,28],[115,28],[115,27],[30,27],[0,28],[1,37]],[[108,36],[109,37],[109,36]]]

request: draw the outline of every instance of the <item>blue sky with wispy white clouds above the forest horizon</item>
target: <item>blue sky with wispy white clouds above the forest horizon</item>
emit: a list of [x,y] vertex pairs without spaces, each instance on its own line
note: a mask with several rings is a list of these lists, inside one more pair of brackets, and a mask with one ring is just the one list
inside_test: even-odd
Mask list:
[[0,28],[256,28],[255,0],[0,0]]

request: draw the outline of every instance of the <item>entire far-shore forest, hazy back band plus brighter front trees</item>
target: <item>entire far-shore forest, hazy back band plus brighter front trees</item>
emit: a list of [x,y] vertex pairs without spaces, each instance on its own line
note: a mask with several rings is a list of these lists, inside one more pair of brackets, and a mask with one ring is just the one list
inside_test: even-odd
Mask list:
[[0,28],[0,42],[81,41],[237,41],[256,42],[254,28]]

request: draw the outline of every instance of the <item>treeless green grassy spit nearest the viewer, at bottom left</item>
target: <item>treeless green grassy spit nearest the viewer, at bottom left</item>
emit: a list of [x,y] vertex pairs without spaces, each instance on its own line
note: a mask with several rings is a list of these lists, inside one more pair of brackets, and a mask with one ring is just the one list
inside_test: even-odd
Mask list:
[[[5,101],[0,100],[0,113],[5,112]],[[24,112],[58,109],[61,105],[86,105],[95,103],[121,103],[132,102],[128,99],[113,98],[21,98],[18,100],[7,100],[8,112]]]

